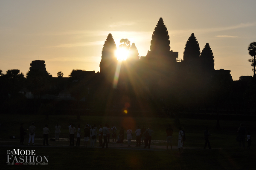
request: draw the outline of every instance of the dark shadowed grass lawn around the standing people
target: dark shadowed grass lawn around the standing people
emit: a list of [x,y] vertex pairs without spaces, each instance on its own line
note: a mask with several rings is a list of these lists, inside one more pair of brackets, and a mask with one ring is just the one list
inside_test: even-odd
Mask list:
[[[72,122],[77,126],[84,127],[85,122],[89,124],[115,124],[118,131],[121,126],[127,130],[128,126],[136,130],[136,126],[152,126],[154,134],[152,140],[166,140],[167,124],[173,124],[171,118],[143,118],[143,117],[104,117],[104,116],[81,116],[81,121],[77,121],[76,116],[50,115],[49,120],[45,120],[44,115],[1,115],[1,139],[0,139],[0,169],[35,169],[36,165],[6,165],[7,150],[29,149],[33,147],[3,147],[3,141],[19,141],[20,122],[24,123],[24,128],[28,128],[31,122],[35,122],[35,138],[43,137],[43,128],[48,124],[50,129],[49,138],[55,137],[55,124],[61,125],[60,138],[68,137],[68,126]],[[36,155],[49,156],[49,165],[36,166],[36,169],[173,169],[173,170],[249,170],[255,169],[255,145],[251,150],[239,150],[236,142],[236,131],[240,121],[220,121],[221,128],[216,129],[215,120],[197,120],[180,118],[180,123],[186,132],[186,147],[204,147],[204,128],[209,126],[212,136],[209,138],[213,150],[185,150],[183,155],[179,155],[177,150],[126,150],[126,149],[99,149],[84,147],[35,147]],[[256,131],[256,124],[253,121],[244,121],[247,130],[252,132],[252,138]],[[177,146],[178,130],[173,127],[173,145]],[[9,136],[17,136],[17,139],[9,139]],[[134,134],[135,135],[135,134]],[[83,135],[82,135],[83,137]],[[26,135],[25,141],[27,141]],[[64,142],[64,141],[63,141]],[[9,142],[12,144],[12,142]],[[14,142],[15,143],[15,142]],[[56,142],[55,142],[56,143]],[[68,144],[68,142],[66,141]],[[27,143],[24,143],[25,145]],[[83,145],[83,142],[81,143]],[[2,147],[1,147],[2,145]],[[157,143],[166,145],[166,142]],[[247,145],[247,144],[246,144]],[[3,165],[3,167],[2,167]]]

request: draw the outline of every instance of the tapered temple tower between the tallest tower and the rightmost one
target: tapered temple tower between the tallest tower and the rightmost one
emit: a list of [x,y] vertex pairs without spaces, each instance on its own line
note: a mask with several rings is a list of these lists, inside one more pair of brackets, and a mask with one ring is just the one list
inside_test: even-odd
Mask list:
[[189,60],[191,58],[198,58],[200,56],[199,43],[195,38],[194,33],[191,34],[189,40],[186,42],[186,46],[183,52],[183,60]]

